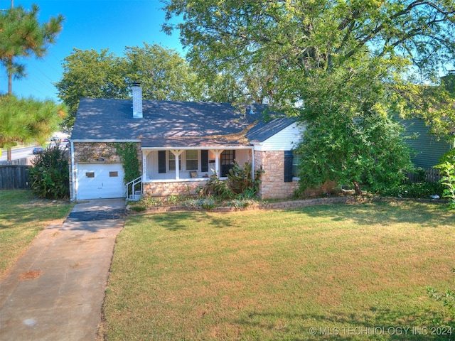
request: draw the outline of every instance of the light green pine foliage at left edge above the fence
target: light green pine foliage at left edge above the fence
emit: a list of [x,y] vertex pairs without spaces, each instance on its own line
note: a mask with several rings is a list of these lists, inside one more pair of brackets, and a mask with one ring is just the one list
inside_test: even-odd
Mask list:
[[52,101],[18,99],[13,94],[0,97],[0,148],[8,151],[18,142],[44,144],[65,117],[66,108]]

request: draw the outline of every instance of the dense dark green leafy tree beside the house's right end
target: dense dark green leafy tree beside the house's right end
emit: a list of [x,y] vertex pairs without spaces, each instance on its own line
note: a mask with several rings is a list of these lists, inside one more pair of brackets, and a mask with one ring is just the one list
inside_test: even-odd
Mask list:
[[327,180],[352,184],[357,195],[362,184],[374,192],[394,188],[405,178],[403,171],[412,168],[404,128],[387,114],[397,111],[395,93],[374,80],[358,84],[357,78],[346,82],[343,76],[333,75],[330,87],[315,84],[311,98],[318,100],[308,103],[314,117],[307,121],[303,143],[294,151],[300,159],[300,189]]

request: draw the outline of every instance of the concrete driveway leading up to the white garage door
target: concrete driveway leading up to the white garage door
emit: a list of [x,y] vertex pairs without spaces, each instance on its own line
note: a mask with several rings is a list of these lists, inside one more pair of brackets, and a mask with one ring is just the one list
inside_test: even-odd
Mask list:
[[75,205],[0,283],[0,340],[96,340],[124,199]]

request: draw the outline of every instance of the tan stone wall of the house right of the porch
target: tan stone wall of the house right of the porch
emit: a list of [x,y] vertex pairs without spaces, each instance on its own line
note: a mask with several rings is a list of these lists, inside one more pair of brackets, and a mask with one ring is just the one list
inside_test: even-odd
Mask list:
[[255,170],[262,167],[262,183],[259,196],[262,199],[284,199],[291,197],[298,181],[284,182],[284,151],[255,151]]

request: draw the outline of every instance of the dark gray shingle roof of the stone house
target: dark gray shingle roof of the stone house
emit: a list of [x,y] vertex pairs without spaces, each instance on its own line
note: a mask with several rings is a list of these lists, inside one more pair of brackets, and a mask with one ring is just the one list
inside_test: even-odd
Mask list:
[[[249,145],[268,139],[294,121],[281,115],[266,123],[266,108],[256,105],[251,113],[229,103],[144,100],[144,118],[134,119],[131,99],[85,98],[80,100],[71,139],[140,139],[143,146]],[[250,141],[240,137],[246,131]]]

